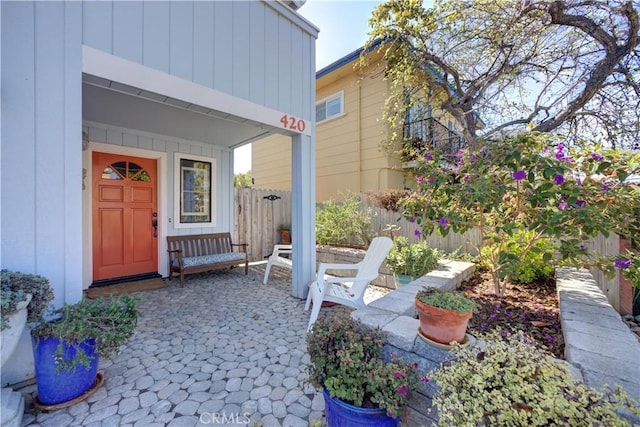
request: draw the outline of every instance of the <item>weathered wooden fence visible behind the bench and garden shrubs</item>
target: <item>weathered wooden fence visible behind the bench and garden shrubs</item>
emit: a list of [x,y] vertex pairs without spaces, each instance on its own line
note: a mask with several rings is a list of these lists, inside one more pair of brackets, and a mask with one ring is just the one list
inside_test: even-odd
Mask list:
[[[365,197],[363,197],[366,200]],[[291,224],[291,192],[281,190],[261,190],[254,188],[235,189],[235,230],[234,241],[249,243],[249,260],[260,261],[269,256],[273,245],[279,243],[278,227]],[[395,235],[406,236],[409,241],[417,242],[421,237],[416,234],[418,225],[402,218],[397,212],[363,203],[363,209],[370,209],[371,227],[377,235],[388,235],[389,226],[397,228]],[[442,237],[436,233],[422,236],[429,246],[444,252],[477,254],[475,247],[480,242],[478,230],[464,234],[449,233]],[[591,239],[586,246],[604,256],[619,253],[619,237],[611,234],[608,238],[600,236]],[[609,303],[618,310],[620,291],[618,274],[608,280],[598,269],[592,269],[598,286],[607,295]]]

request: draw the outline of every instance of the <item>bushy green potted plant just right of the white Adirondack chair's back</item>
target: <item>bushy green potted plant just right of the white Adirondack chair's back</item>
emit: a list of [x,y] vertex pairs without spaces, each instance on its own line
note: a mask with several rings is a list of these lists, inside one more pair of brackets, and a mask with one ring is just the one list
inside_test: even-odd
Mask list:
[[406,237],[398,236],[393,239],[386,263],[396,287],[400,287],[434,270],[438,266],[438,252],[424,240],[409,243]]

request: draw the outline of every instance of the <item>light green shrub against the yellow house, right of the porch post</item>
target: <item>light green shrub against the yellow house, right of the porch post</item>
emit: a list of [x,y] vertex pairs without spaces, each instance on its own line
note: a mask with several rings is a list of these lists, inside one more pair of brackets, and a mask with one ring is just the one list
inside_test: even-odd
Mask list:
[[343,202],[329,199],[316,209],[316,240],[321,245],[367,247],[374,237],[370,208],[362,209],[354,193],[344,195]]

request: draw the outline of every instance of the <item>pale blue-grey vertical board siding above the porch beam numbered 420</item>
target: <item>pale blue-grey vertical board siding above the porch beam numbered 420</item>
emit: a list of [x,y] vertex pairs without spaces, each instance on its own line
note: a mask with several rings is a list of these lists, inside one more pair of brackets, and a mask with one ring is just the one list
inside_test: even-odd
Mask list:
[[317,29],[278,2],[86,2],[82,43],[310,119]]

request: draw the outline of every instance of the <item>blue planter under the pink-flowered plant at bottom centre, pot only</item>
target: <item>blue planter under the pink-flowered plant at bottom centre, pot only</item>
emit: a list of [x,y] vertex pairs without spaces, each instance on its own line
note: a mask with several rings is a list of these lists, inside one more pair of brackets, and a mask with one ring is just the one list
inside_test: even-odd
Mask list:
[[399,418],[391,418],[386,409],[353,406],[324,391],[324,408],[329,427],[398,427]]

